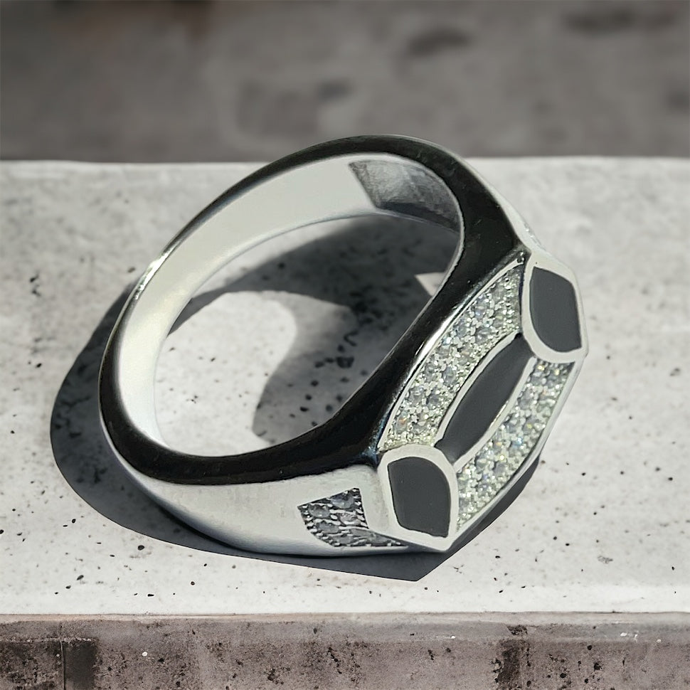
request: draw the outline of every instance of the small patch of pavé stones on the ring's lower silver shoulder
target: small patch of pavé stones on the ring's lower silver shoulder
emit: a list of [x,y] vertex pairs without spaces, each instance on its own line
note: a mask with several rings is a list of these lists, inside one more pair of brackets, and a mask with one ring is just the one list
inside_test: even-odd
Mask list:
[[404,546],[368,529],[359,489],[305,503],[299,512],[307,529],[331,546]]

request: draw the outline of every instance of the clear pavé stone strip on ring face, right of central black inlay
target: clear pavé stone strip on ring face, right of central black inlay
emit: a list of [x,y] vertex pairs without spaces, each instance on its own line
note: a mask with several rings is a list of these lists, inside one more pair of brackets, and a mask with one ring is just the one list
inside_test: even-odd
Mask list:
[[536,361],[503,423],[457,473],[458,527],[492,501],[531,455],[572,368],[572,364]]

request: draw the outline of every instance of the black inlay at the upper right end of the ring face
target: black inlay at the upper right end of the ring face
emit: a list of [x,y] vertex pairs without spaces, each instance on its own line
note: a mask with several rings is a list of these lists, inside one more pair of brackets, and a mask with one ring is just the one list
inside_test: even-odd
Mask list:
[[532,271],[529,311],[536,334],[552,350],[568,352],[581,346],[575,289],[562,275],[543,268]]

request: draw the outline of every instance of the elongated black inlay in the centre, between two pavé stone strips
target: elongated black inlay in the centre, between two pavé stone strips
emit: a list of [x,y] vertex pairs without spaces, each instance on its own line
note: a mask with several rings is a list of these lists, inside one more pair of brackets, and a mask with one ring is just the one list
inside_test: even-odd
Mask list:
[[515,390],[531,354],[518,336],[477,376],[436,444],[449,460],[455,462],[484,435]]

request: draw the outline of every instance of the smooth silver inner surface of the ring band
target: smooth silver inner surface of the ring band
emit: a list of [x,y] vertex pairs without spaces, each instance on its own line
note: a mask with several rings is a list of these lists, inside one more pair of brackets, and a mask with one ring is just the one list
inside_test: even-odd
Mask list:
[[164,443],[156,423],[154,373],[161,345],[191,295],[236,256],[290,230],[338,218],[405,216],[459,233],[455,197],[427,168],[392,155],[338,156],[289,169],[195,219],[140,280],[112,343],[124,410]]

